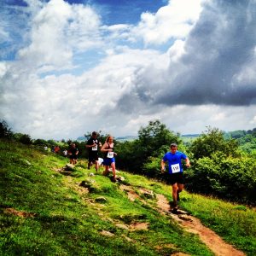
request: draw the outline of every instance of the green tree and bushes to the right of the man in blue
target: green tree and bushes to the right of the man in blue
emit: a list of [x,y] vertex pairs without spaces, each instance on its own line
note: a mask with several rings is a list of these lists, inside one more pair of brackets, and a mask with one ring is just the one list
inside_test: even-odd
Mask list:
[[253,155],[241,154],[234,139],[208,128],[190,147],[192,167],[185,172],[187,189],[255,205],[256,166]]

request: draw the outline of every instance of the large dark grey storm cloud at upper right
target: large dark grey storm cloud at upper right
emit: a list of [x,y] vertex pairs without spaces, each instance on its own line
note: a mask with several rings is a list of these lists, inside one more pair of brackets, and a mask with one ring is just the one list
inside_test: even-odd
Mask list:
[[168,50],[169,66],[144,67],[134,79],[132,94],[120,100],[130,97],[130,102],[143,102],[145,108],[255,104],[255,8],[254,2],[205,3],[188,38]]

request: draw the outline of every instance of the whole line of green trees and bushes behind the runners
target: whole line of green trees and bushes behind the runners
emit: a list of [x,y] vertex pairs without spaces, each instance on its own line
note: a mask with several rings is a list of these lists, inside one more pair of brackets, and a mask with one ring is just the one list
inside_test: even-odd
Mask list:
[[[178,150],[189,156],[191,167],[184,166],[185,187],[187,190],[203,195],[215,195],[219,198],[256,205],[256,141],[255,131],[243,137],[227,137],[218,128],[208,127],[191,143],[183,143],[180,134],[170,131],[159,120],[150,121],[141,127],[137,139],[127,142],[114,141],[116,166],[124,171],[143,174],[162,181],[168,173],[161,174],[160,160],[170,150],[171,143],[177,143]],[[252,145],[247,150],[241,144],[249,136]],[[14,134],[3,121],[0,123],[0,138],[15,139],[20,143],[35,146],[54,146],[55,141],[32,140],[28,135]],[[90,133],[84,135],[89,139]],[[107,135],[99,135],[104,143]],[[71,141],[61,141],[61,149],[67,148]],[[75,142],[80,157],[87,157],[84,142]],[[248,142],[247,142],[248,143]],[[101,155],[101,153],[100,153]],[[101,155],[102,156],[102,155]],[[167,166],[166,166],[167,167]],[[167,170],[167,168],[166,168]]]

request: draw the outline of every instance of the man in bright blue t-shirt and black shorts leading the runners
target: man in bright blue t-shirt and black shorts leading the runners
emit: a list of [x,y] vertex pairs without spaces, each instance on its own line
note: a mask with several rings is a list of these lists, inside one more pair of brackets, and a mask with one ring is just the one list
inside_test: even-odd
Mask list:
[[182,192],[184,187],[182,160],[185,160],[187,167],[190,166],[189,158],[186,154],[177,151],[177,144],[175,143],[171,144],[170,152],[166,153],[161,160],[161,172],[166,171],[166,161],[169,165],[170,182],[172,184],[173,213],[177,212],[179,193]]

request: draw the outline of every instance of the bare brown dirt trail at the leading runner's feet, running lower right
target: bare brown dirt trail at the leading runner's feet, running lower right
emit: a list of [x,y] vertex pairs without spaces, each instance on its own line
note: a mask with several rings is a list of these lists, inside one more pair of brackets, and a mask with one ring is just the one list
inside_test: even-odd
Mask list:
[[166,200],[164,195],[156,195],[157,205],[159,211],[162,214],[171,214],[172,218],[175,219],[178,224],[191,233],[198,234],[201,241],[203,241],[207,247],[212,250],[217,256],[244,256],[245,253],[236,250],[230,244],[227,244],[221,237],[219,237],[215,232],[205,227],[201,224],[198,218],[189,216],[187,212],[179,210],[179,214],[170,213],[169,202]]

